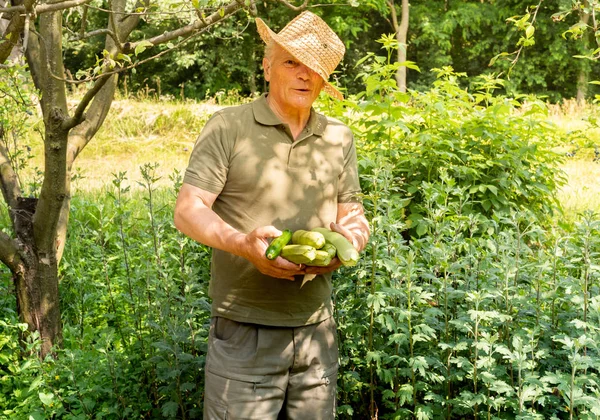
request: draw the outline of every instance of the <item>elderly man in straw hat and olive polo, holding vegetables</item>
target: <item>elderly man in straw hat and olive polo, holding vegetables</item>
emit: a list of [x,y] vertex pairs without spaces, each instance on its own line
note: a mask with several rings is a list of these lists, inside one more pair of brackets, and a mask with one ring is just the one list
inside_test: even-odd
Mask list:
[[321,90],[342,97],[327,79],[345,49],[310,12],[279,33],[256,23],[269,92],[208,121],[175,208],[177,228],[213,248],[204,418],[333,419],[340,261],[265,251],[283,229],[329,227],[359,251],[368,240],[352,133],[312,108]]

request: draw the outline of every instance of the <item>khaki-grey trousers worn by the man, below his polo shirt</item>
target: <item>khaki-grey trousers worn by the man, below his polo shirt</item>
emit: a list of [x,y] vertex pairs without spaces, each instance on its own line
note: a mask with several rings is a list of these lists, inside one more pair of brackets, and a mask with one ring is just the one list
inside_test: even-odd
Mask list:
[[333,419],[337,359],[333,317],[297,328],[215,317],[204,420]]

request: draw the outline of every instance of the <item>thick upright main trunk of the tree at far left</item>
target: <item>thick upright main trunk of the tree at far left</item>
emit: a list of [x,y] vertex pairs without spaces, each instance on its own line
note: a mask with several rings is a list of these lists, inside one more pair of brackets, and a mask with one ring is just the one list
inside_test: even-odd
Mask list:
[[[39,200],[17,197],[14,231],[21,264],[12,270],[20,319],[30,331],[38,331],[42,358],[54,345],[62,343],[58,298],[58,262],[55,232],[60,208],[67,196],[66,151],[68,131],[63,127],[67,100],[63,81],[62,14],[53,12],[39,18],[39,36],[30,23],[30,43],[26,57],[34,83],[42,92],[44,118],[44,181]],[[41,41],[43,40],[43,41]],[[20,192],[19,192],[20,195]],[[23,208],[20,208],[23,207]]]

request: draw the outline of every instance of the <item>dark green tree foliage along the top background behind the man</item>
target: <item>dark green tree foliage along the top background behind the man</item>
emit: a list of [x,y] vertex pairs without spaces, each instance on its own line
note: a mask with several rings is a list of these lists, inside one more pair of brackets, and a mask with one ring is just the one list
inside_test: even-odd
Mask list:
[[[256,33],[253,16],[248,13],[238,13],[197,37],[180,38],[151,48],[144,46],[144,40],[194,20],[199,9],[213,11],[224,2],[196,3],[192,8],[193,2],[165,1],[143,9],[148,14],[131,35],[131,42],[142,43],[137,44],[138,48],[129,56],[105,57],[101,53],[104,39],[100,36],[83,40],[65,37],[66,66],[72,74],[83,75],[90,69],[100,72],[104,65],[129,64],[168,51],[138,69],[128,70],[120,80],[122,90],[128,94],[152,89],[159,96],[194,99],[204,99],[217,91],[237,90],[244,96],[265,91],[261,68],[263,42]],[[396,2],[398,13],[401,12],[399,3]],[[409,87],[427,90],[436,80],[430,70],[451,66],[469,76],[490,71],[504,72],[505,77],[509,74],[503,89],[511,94],[515,91],[535,93],[548,96],[553,102],[574,97],[581,88],[582,71],[589,80],[600,79],[600,71],[590,60],[575,58],[598,56],[592,47],[591,23],[587,27],[580,23],[582,9],[578,5],[581,3],[539,2],[536,8],[524,0],[413,0],[410,2],[408,59],[425,71],[409,71]],[[348,92],[358,93],[363,86],[356,79],[360,70],[355,63],[368,51],[376,51],[379,48],[376,40],[394,30],[389,2],[323,0],[320,4],[330,7],[310,10],[321,15],[347,47],[338,73],[333,77]],[[82,22],[83,8],[65,14],[70,34],[79,33],[82,27],[106,27],[107,13],[102,10],[102,2],[95,1],[92,5],[95,7],[85,12],[87,24]],[[256,6],[258,16],[266,19],[275,31],[297,14],[275,1],[256,2]],[[516,50],[521,47],[525,48],[515,61]],[[497,60],[490,69],[490,60],[494,57]],[[587,90],[588,98],[597,93],[594,85],[588,85]]]

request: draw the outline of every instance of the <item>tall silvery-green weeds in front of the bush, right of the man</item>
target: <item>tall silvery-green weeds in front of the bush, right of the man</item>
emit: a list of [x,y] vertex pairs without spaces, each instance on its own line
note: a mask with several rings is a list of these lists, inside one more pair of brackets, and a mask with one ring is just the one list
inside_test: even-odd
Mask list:
[[[365,197],[372,238],[356,279],[336,277],[340,418],[373,407],[380,418],[597,415],[597,324],[592,333],[583,319],[599,273],[586,288],[580,259],[600,250],[581,242],[591,232],[545,232],[526,212],[464,215],[437,199],[458,188],[437,184],[426,192],[432,231],[406,242],[388,165]],[[598,232],[597,214],[580,223]]]

